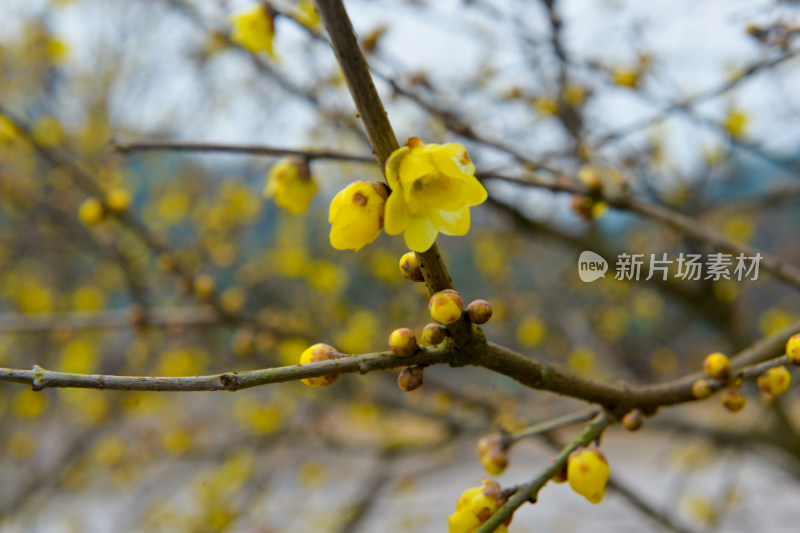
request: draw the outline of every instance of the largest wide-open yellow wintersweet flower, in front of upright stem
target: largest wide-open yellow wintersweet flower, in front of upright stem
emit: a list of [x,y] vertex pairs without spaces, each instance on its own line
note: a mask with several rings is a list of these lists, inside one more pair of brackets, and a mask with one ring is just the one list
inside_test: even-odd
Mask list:
[[406,245],[424,252],[439,232],[465,235],[470,206],[486,200],[475,166],[460,144],[425,144],[411,137],[386,161],[392,194],[386,201],[385,229],[405,232]]

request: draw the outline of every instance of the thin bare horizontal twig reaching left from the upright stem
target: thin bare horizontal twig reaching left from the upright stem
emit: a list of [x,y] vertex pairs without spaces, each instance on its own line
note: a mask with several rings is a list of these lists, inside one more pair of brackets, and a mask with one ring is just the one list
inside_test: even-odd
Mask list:
[[375,157],[358,154],[343,154],[329,150],[295,150],[253,144],[219,144],[172,141],[130,141],[112,142],[112,147],[124,154],[145,150],[169,150],[180,152],[228,152],[266,156],[295,156],[307,161],[329,159],[333,161],[353,161],[356,163],[375,163]]

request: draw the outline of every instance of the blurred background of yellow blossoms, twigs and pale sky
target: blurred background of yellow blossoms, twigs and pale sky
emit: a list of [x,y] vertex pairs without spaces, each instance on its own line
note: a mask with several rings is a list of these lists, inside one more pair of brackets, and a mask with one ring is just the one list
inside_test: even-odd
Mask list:
[[[296,364],[316,342],[380,351],[393,329],[429,321],[424,287],[399,273],[401,238],[329,245],[331,197],[380,180],[377,165],[312,161],[319,193],[291,215],[262,194],[275,157],[118,149],[370,154],[307,3],[272,2],[276,57],[230,39],[231,16],[253,5],[2,1],[0,366],[210,374]],[[460,142],[479,171],[511,176],[539,172],[514,152],[589,170],[800,264],[797,2],[346,6],[401,142]],[[796,289],[763,272],[582,283],[583,250],[612,267],[623,252],[713,250],[602,203],[487,188],[469,235],[440,248],[465,301],[492,303],[487,337],[537,360],[650,383],[800,319]],[[124,217],[80,220],[88,197],[119,189]],[[580,407],[479,369],[429,369],[412,393],[395,379],[235,394],[0,384],[0,531],[440,532],[486,475],[478,438]],[[793,531],[798,396],[746,391],[738,415],[712,400],[604,438],[621,486],[661,518],[619,492],[593,507],[549,485],[510,531]],[[515,447],[499,481],[535,475],[551,444]]]

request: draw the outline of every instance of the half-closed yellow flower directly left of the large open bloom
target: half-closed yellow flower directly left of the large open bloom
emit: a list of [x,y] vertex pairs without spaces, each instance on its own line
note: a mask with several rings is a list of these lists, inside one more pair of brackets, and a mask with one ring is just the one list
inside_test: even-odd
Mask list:
[[328,212],[331,246],[357,252],[377,239],[386,196],[386,187],[374,181],[356,181],[334,196]]

